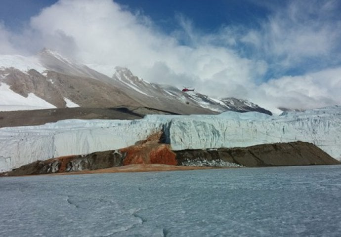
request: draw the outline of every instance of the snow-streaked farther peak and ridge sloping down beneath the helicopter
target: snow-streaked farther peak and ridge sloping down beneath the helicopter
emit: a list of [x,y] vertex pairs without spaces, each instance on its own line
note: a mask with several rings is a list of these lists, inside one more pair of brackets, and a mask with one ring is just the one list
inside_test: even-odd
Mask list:
[[[162,108],[163,105],[167,105],[167,107],[163,109],[168,108],[173,111],[173,107],[178,108],[187,105],[187,107],[201,107],[215,113],[224,111],[256,111],[271,115],[270,111],[246,100],[236,98],[218,100],[194,91],[182,92],[171,85],[149,83],[134,76],[127,68],[116,67],[115,69],[116,72],[113,75],[113,80],[117,86],[141,103],[143,103],[143,101],[152,103],[153,101],[153,103],[157,105],[157,108]],[[138,93],[136,93],[136,91]]]

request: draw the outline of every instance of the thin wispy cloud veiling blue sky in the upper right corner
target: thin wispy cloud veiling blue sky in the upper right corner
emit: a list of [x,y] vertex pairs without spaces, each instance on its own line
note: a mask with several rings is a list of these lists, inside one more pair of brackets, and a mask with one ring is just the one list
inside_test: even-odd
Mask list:
[[277,8],[261,30],[251,29],[244,40],[286,68],[304,64],[309,58],[328,60],[340,46],[338,9],[340,2],[334,0],[290,1],[286,7]]

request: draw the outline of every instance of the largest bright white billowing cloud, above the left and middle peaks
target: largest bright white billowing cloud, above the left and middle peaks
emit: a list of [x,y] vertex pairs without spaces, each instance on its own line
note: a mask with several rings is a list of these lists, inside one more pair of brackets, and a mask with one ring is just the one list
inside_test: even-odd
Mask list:
[[[229,48],[210,44],[210,36],[197,34],[185,17],[177,18],[182,27],[177,34],[190,45],[181,45],[176,34],[157,31],[150,19],[111,0],[60,0],[32,18],[31,26],[48,47],[60,47],[58,41],[63,40],[52,40],[56,35],[69,38],[77,47],[76,58],[94,68],[96,64],[108,65],[108,75],[120,65],[159,83],[173,81],[177,86],[189,83],[204,88],[204,82],[219,82],[227,86],[214,89],[214,93],[223,96],[238,84],[253,83],[255,75],[266,71],[264,61],[249,60]],[[60,51],[67,54],[72,50],[62,47]],[[98,68],[103,70],[103,66]]]

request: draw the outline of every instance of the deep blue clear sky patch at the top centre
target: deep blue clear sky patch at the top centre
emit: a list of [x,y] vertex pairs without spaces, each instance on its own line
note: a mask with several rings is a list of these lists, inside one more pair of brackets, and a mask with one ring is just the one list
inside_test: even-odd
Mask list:
[[167,32],[176,29],[175,16],[183,14],[194,27],[212,33],[223,25],[243,24],[257,27],[256,21],[266,16],[267,7],[250,0],[118,0],[132,11],[141,11]]

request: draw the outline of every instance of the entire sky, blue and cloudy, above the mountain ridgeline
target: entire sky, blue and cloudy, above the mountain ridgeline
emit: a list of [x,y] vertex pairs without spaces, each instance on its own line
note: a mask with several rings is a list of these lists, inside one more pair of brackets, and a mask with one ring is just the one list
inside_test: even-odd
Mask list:
[[341,0],[1,0],[0,54],[47,47],[215,98],[341,104]]

